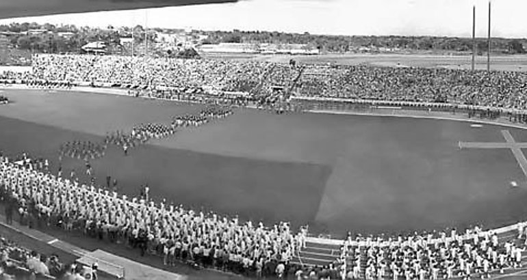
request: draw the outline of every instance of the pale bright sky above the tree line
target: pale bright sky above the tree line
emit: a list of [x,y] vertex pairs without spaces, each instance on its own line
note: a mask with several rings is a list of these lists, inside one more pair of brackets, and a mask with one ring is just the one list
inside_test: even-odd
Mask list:
[[[37,22],[202,30],[283,31],[329,35],[487,36],[487,0],[243,0],[84,14],[8,18],[0,24]],[[527,38],[526,0],[493,0],[493,37]]]

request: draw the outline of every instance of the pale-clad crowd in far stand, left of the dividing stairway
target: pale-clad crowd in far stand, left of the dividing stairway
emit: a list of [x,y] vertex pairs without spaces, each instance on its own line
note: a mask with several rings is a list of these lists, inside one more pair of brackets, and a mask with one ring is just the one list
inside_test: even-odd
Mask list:
[[[181,94],[190,98],[203,92],[251,92],[256,98],[270,96],[277,88],[289,92],[300,74],[295,66],[263,61],[97,55],[35,55],[33,61],[33,79],[39,83],[125,87],[137,96],[147,92],[151,97],[179,100]],[[144,91],[147,88],[153,90]]]

